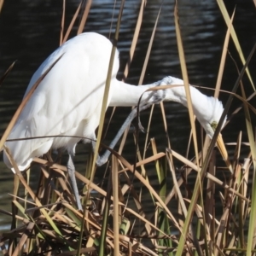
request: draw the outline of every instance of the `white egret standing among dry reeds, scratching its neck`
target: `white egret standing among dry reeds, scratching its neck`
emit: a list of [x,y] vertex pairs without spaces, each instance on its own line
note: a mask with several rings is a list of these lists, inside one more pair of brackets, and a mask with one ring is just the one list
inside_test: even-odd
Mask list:
[[[79,209],[82,207],[74,177],[73,155],[76,144],[80,141],[78,137],[88,138],[84,139],[84,143],[96,140],[95,130],[99,125],[111,49],[112,44],[108,38],[95,32],[86,32],[70,39],[49,55],[33,74],[26,94],[52,63],[62,56],[26,103],[8,139],[40,138],[5,144],[20,171],[25,170],[33,158],[47,153],[50,148],[66,148],[69,154],[67,168]],[[116,79],[118,70],[117,52],[113,63],[108,106],[137,106],[140,96],[148,88],[164,84],[183,84],[183,80],[172,77],[148,85],[125,84]],[[218,99],[205,96],[192,86],[190,94],[197,119],[212,137],[212,124],[218,123],[223,113],[222,103]],[[142,102],[151,104],[155,99],[180,102],[187,107],[183,86],[166,89],[164,92],[146,92],[143,94]],[[134,116],[133,111],[131,119]],[[129,119],[128,122],[130,121]],[[63,137],[54,137],[60,135]],[[3,160],[15,172],[5,153]],[[97,164],[101,165],[105,160],[99,159]]]

